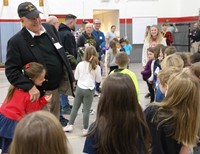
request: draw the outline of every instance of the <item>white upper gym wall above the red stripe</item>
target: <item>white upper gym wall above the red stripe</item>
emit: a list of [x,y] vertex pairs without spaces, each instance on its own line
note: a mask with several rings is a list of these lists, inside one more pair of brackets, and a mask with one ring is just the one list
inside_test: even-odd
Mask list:
[[[0,19],[19,19],[17,6],[26,0],[9,0],[9,6],[3,6],[0,1]],[[29,0],[30,1],[30,0]],[[44,7],[39,7],[39,0],[31,0],[44,14],[75,14],[79,19],[92,19],[93,9],[119,9],[120,18],[142,16],[184,17],[197,16],[200,0],[154,0],[154,1],[127,1],[110,0],[102,3],[101,0],[44,0]]]

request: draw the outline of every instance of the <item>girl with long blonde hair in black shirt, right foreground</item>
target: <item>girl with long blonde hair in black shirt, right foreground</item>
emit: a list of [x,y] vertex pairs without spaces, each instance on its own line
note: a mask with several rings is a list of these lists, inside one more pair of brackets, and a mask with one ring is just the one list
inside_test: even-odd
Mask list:
[[200,87],[188,71],[173,75],[167,82],[162,103],[145,110],[152,134],[152,154],[178,154],[196,145],[200,126]]

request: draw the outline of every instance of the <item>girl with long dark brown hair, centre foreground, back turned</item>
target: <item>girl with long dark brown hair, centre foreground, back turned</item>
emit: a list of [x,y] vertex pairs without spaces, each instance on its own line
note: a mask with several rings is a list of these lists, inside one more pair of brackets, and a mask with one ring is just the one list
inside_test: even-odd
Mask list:
[[150,132],[129,75],[113,73],[102,86],[95,122],[83,152],[88,154],[148,154]]

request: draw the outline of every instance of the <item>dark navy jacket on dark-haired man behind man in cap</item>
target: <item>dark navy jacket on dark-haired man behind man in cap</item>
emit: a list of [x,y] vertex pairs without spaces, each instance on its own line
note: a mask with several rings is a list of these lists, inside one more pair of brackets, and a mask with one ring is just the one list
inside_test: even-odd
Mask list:
[[65,52],[77,57],[76,40],[71,29],[67,25],[61,23],[58,29],[58,34]]

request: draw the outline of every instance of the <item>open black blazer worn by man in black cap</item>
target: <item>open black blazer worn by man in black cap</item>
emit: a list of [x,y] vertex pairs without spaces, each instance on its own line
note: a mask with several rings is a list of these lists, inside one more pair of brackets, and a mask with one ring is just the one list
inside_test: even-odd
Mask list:
[[[43,27],[56,49],[55,43],[60,42],[56,29],[46,23],[43,24]],[[66,73],[68,74],[68,85],[70,85],[68,90],[72,90],[74,76],[71,66],[65,57],[64,48],[57,47],[56,51],[58,52],[58,55],[65,66],[64,68]],[[5,73],[8,81],[19,89],[29,91],[34,84],[30,79],[23,75],[22,67],[29,62],[38,62],[45,66],[46,63],[41,52],[42,51],[39,49],[38,45],[35,43],[33,37],[26,28],[22,28],[21,31],[10,38],[7,44],[7,59],[5,63]],[[46,89],[41,88],[40,92],[43,92],[44,90]]]

